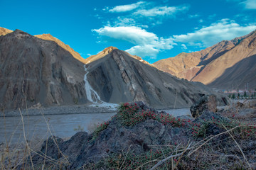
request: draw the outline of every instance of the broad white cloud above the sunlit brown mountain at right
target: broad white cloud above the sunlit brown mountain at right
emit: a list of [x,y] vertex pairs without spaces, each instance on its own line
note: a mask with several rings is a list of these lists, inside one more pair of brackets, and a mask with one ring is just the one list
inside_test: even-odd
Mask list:
[[174,35],[174,42],[184,42],[188,45],[209,47],[221,40],[232,40],[235,37],[246,35],[256,29],[256,25],[240,26],[235,21],[227,18],[216,23],[212,23],[208,27],[196,30],[194,33],[184,35]]

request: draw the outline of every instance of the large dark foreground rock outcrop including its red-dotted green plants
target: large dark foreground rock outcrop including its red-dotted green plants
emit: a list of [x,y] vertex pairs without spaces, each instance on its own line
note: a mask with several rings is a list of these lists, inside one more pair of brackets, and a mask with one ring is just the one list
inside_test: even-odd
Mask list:
[[[144,111],[144,108],[147,111]],[[239,150],[235,149],[235,143],[230,140],[223,125],[229,129],[236,126],[236,124],[233,125],[233,120],[223,117],[220,113],[206,111],[196,120],[181,120],[172,118],[163,112],[158,113],[143,103],[132,105],[124,103],[112,120],[102,123],[92,134],[78,132],[68,141],[59,137],[50,137],[43,143],[41,152],[39,152],[41,155],[46,154],[47,159],[38,154],[34,154],[32,159],[33,164],[38,167],[44,164],[45,167],[54,167],[54,169],[119,169],[122,166],[127,169],[136,169],[145,162],[156,164],[164,159],[163,154],[169,156],[181,153],[177,152],[178,148],[182,150],[191,145],[197,148],[201,145],[203,138],[215,135],[210,141],[214,145],[209,143],[198,151],[188,149],[187,152],[196,152],[196,154],[188,156],[187,152],[184,153],[183,157],[186,159],[181,159],[177,167],[178,169],[190,169],[189,167],[196,166],[199,169],[206,169],[206,167],[208,169],[210,167],[210,169],[230,169],[234,162],[237,164],[243,160],[243,156]],[[251,155],[248,157],[250,166],[256,167],[256,138],[253,135],[255,131],[251,130],[252,135],[248,136],[247,130],[242,131],[242,138],[239,138],[241,135],[239,131],[235,139],[238,142],[242,140],[244,147],[250,146],[250,149],[244,148],[244,152],[246,155]],[[210,152],[209,146],[215,150],[215,153]],[[236,154],[234,155],[236,158],[226,159],[221,164],[218,162],[218,164],[211,163],[206,166],[196,163],[206,161],[206,156],[210,154],[215,155],[211,157],[215,162],[225,155],[230,157],[233,153]],[[199,154],[205,156],[196,156]],[[58,162],[61,162],[61,166]],[[233,163],[232,166],[229,166],[231,163]],[[154,164],[145,164],[144,169],[150,169]],[[166,162],[165,166],[170,167],[170,164]],[[246,164],[243,166],[247,167]]]

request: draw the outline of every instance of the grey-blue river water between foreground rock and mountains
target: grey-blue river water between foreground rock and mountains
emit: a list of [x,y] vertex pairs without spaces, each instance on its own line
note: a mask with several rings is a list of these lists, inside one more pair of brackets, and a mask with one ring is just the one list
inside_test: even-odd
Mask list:
[[[166,110],[167,113],[189,115],[188,108]],[[85,113],[65,115],[29,115],[0,117],[0,144],[26,140],[45,140],[50,134],[58,137],[71,137],[75,132],[93,132],[97,124],[110,120],[115,113]],[[25,137],[24,137],[25,133]]]

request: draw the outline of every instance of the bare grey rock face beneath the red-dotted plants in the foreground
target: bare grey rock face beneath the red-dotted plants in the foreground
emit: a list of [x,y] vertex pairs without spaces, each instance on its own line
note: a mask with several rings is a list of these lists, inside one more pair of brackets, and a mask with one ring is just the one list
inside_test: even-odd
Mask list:
[[[137,106],[139,106],[139,110],[149,108],[143,102],[137,102]],[[107,128],[99,132],[95,139],[92,139],[94,133],[88,135],[86,132],[78,132],[68,141],[50,137],[43,143],[41,152],[55,160],[65,161],[68,159],[70,166],[68,163],[63,166],[67,166],[68,169],[79,169],[84,164],[99,162],[113,153],[120,154],[129,150],[134,154],[140,154],[154,149],[151,145],[166,145],[175,142],[186,145],[189,140],[192,140],[186,127],[164,125],[158,120],[150,118],[134,126],[125,126],[121,123],[122,121],[115,116],[110,120]],[[58,147],[55,143],[58,144]],[[33,160],[35,164],[40,164],[43,157],[35,155]]]

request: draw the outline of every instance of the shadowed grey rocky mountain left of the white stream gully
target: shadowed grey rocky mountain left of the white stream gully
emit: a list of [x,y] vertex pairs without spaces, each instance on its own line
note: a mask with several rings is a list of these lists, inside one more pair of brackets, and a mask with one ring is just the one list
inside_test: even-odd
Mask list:
[[14,30],[0,36],[0,63],[2,108],[87,102],[84,64],[53,41]]

